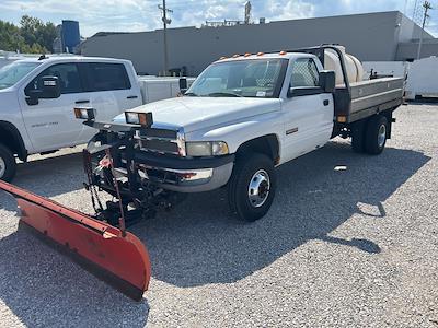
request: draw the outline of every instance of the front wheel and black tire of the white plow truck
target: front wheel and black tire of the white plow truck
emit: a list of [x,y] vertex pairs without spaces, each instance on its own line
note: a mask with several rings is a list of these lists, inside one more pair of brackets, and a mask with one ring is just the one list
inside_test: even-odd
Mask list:
[[[254,175],[257,177],[253,179]],[[266,179],[267,176],[267,179]],[[261,192],[256,204],[250,200],[250,183],[260,184]],[[232,213],[241,220],[253,222],[263,218],[269,210],[277,187],[273,161],[260,153],[246,153],[238,156],[230,181],[228,183],[228,202]],[[268,189],[268,190],[266,190]],[[254,189],[255,190],[255,189]],[[266,194],[266,196],[264,196]],[[262,198],[264,201],[262,201]]]

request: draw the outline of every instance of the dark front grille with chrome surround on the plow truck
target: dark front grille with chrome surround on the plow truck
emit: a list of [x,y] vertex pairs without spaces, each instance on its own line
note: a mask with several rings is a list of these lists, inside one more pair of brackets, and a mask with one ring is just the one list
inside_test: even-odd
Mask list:
[[147,129],[137,134],[142,151],[180,155],[177,131],[168,129]]

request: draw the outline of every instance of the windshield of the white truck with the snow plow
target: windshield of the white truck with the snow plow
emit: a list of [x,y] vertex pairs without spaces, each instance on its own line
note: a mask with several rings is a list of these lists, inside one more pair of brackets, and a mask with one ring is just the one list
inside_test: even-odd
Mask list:
[[249,59],[209,66],[185,93],[187,96],[278,97],[287,59]]

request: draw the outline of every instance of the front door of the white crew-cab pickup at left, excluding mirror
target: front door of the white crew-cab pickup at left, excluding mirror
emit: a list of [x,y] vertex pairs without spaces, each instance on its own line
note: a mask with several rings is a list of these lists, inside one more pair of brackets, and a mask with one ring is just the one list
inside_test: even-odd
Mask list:
[[[43,77],[57,77],[61,87],[58,98],[39,98],[30,105],[26,94],[42,87]],[[90,94],[84,92],[77,63],[55,63],[34,78],[20,93],[20,106],[27,133],[36,152],[76,145],[81,121],[74,118],[76,103],[90,106]],[[78,106],[78,105],[77,105]]]

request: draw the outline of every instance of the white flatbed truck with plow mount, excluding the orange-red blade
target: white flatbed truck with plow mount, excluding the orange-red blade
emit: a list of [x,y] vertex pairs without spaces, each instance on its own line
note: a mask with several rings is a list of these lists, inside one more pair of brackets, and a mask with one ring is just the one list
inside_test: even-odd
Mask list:
[[[327,51],[342,77],[324,70]],[[89,184],[137,216],[174,191],[226,186],[232,212],[257,220],[274,199],[275,166],[336,136],[351,137],[353,149],[368,154],[380,154],[391,138],[404,79],[349,82],[345,58],[337,46],[237,55],[210,65],[183,97],[127,110],[113,122],[78,108],[77,117],[100,130],[88,147]],[[118,208],[97,213],[117,224]]]

